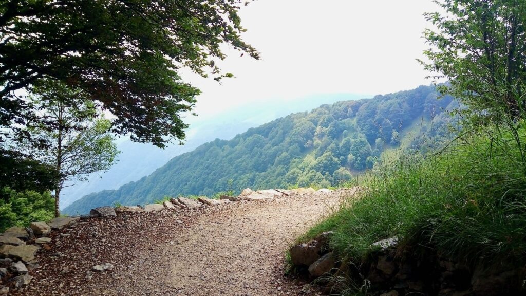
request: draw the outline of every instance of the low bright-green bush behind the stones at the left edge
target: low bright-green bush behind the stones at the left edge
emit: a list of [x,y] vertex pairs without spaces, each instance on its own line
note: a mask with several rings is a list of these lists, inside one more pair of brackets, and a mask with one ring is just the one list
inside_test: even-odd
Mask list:
[[54,198],[49,192],[17,192],[7,186],[0,189],[5,199],[0,200],[0,232],[13,225],[28,226],[34,221],[53,218]]

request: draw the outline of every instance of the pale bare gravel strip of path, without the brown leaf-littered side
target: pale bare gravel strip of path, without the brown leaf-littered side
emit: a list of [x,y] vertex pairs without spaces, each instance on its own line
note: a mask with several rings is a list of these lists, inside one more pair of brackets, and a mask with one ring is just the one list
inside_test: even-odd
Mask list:
[[[278,295],[297,293],[281,277],[284,254],[297,235],[335,204],[335,194],[242,204],[201,216],[163,254],[122,274],[108,294]],[[149,277],[152,277],[149,278]]]

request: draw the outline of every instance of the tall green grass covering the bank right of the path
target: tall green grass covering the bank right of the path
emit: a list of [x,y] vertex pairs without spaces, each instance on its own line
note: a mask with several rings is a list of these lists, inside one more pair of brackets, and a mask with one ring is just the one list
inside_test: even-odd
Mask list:
[[426,157],[403,155],[369,191],[313,226],[304,240],[334,231],[330,244],[353,262],[372,243],[397,236],[467,263],[524,264],[526,252],[526,129],[479,126]]

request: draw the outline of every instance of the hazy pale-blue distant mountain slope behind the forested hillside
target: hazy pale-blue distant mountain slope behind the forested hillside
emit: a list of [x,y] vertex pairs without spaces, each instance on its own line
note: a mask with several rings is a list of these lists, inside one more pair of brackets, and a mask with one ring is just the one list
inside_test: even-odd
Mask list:
[[[119,154],[119,162],[107,172],[92,174],[89,177],[89,182],[77,182],[74,186],[64,188],[60,192],[62,196],[60,208],[64,208],[89,193],[118,189],[131,181],[137,181],[141,177],[153,173],[174,156],[192,151],[199,145],[216,138],[231,139],[249,127],[258,126],[292,112],[315,108],[320,103],[332,104],[360,97],[363,96],[328,94],[311,95],[294,100],[275,99],[267,102],[252,102],[250,105],[247,102],[247,105],[230,108],[228,112],[215,116],[190,116],[186,119],[190,124],[186,144],[182,146],[169,145],[164,150],[150,144],[133,143],[129,140],[122,141],[118,144],[118,149],[122,151]],[[232,118],[236,120],[233,121]]]

